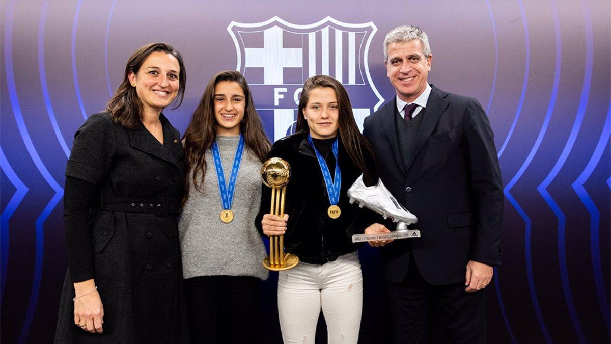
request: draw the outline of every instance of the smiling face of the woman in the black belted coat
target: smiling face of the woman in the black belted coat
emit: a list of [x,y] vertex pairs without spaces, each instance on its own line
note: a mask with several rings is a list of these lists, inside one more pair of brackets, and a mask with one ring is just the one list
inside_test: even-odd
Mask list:
[[161,113],[172,103],[180,86],[180,65],[171,54],[155,51],[142,62],[137,73],[131,72],[128,78],[136,88],[145,114]]

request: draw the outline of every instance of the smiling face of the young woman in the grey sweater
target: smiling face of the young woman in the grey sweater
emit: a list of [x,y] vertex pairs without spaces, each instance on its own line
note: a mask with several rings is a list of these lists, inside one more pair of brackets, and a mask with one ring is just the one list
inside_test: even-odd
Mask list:
[[236,81],[220,81],[214,86],[214,119],[216,134],[240,135],[240,122],[244,118],[246,96]]

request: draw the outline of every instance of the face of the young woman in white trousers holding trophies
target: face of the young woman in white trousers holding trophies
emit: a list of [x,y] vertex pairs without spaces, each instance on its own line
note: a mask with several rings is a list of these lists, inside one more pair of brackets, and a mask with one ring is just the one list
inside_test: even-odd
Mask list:
[[332,88],[312,89],[303,113],[313,138],[324,139],[337,135],[339,107]]

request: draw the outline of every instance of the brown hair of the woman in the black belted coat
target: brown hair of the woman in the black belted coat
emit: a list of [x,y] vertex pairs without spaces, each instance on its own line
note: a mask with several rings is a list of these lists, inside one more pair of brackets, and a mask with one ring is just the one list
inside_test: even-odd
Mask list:
[[183,63],[183,56],[174,47],[167,43],[148,43],[133,54],[128,59],[125,65],[125,73],[123,73],[123,81],[114,92],[112,98],[106,104],[106,110],[111,113],[111,118],[115,123],[119,123],[128,129],[136,129],[142,122],[142,102],[136,93],[136,88],[131,86],[130,73],[137,74],[138,70],[148,58],[148,55],[161,51],[174,56],[178,60],[180,71],[178,72],[178,94],[174,102],[177,108],[183,102],[185,97],[185,86],[187,81],[187,73],[185,70],[185,64]]

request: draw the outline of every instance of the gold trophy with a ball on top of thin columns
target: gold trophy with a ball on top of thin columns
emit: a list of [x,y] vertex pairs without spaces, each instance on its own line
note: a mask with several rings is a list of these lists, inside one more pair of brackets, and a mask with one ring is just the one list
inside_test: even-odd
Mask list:
[[[271,187],[271,211],[269,214],[284,217],[284,198],[287,184],[291,177],[291,166],[280,158],[271,158],[261,167],[263,184]],[[291,269],[299,264],[299,257],[284,253],[284,235],[269,237],[269,256],[263,260],[263,266],[271,271]]]

